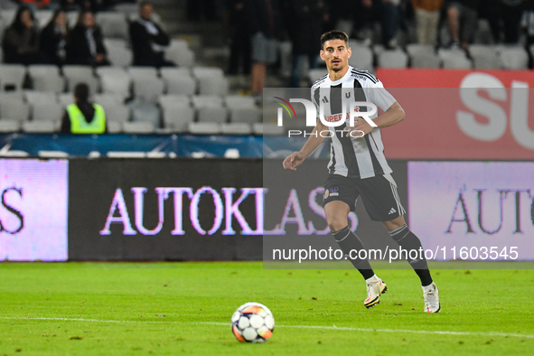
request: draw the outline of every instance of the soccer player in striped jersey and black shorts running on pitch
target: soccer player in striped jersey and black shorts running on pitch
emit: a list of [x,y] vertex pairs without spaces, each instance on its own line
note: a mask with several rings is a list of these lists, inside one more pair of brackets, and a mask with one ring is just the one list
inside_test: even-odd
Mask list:
[[[377,114],[370,117],[378,127],[370,126],[361,117],[354,120],[354,126],[349,126],[349,120],[341,126],[326,126],[317,119],[312,135],[299,152],[286,157],[284,168],[295,171],[323,142],[324,136],[331,136],[331,159],[328,164],[329,176],[324,185],[323,206],[326,222],[345,256],[350,256],[351,250],[359,251],[363,248],[361,240],[348,225],[348,215],[354,211],[359,196],[370,219],[382,221],[391,238],[402,249],[419,251],[422,248],[421,241],[408,229],[404,220],[403,214],[406,211],[398,199],[397,184],[391,177],[392,170],[384,156],[379,130],[380,127],[402,121],[405,117],[404,110],[369,71],[349,65],[351,48],[348,42],[349,37],[341,31],[324,33],[321,37],[320,54],[326,63],[328,74],[312,86],[312,100],[317,108],[317,116],[320,102],[323,104],[325,119],[332,121],[341,117],[339,114],[342,114],[342,105],[346,105],[348,101],[367,101],[384,111],[379,117]],[[363,108],[361,111],[364,111]],[[316,135],[324,131],[328,135]],[[425,256],[418,255],[416,259],[408,258],[408,261],[421,280],[425,312],[439,312],[441,307],[438,290],[430,276]],[[367,299],[363,304],[367,308],[379,304],[380,294],[388,290],[386,284],[375,275],[369,260],[355,258],[351,262],[367,283]]]

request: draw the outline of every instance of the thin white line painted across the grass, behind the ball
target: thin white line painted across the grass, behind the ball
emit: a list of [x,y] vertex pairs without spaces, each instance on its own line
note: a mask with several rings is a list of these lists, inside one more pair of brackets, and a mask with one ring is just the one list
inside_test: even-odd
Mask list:
[[[82,318],[45,318],[45,317],[9,317],[2,316],[0,319],[7,320],[49,320],[58,322],[87,322],[87,323],[192,323],[192,324],[207,324],[207,325],[221,325],[230,326],[230,323],[216,323],[216,322],[173,322],[173,321],[136,321],[136,320],[102,320],[102,319],[82,319]],[[276,325],[277,328],[297,328],[297,329],[318,329],[318,330],[339,330],[348,332],[364,332],[364,333],[429,333],[436,335],[458,335],[458,336],[501,336],[501,337],[519,337],[534,339],[532,334],[520,333],[470,333],[470,332],[447,332],[447,331],[428,331],[428,330],[408,330],[408,329],[366,329],[353,328],[347,326],[323,326],[323,325]]]

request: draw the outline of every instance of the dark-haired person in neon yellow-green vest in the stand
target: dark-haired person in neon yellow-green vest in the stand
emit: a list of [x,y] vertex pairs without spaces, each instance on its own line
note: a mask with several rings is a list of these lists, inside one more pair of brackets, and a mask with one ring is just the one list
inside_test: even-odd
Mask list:
[[89,102],[89,86],[74,87],[74,104],[67,106],[61,120],[63,134],[104,134],[107,132],[106,113],[98,104]]

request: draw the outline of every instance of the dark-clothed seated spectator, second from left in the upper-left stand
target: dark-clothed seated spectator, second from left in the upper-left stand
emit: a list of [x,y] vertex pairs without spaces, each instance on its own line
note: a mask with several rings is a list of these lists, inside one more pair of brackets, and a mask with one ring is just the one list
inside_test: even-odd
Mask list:
[[65,64],[68,33],[67,14],[63,10],[56,10],[41,32],[40,50],[47,63],[59,66]]

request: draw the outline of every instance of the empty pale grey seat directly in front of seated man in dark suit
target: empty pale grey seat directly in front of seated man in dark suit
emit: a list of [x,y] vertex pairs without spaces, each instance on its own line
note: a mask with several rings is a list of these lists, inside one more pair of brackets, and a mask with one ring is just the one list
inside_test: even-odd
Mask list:
[[155,68],[130,67],[128,74],[132,78],[137,101],[155,103],[164,93],[164,81],[157,77]]

